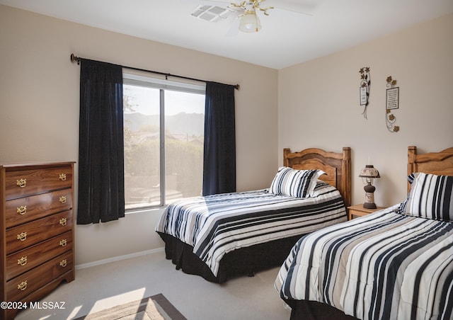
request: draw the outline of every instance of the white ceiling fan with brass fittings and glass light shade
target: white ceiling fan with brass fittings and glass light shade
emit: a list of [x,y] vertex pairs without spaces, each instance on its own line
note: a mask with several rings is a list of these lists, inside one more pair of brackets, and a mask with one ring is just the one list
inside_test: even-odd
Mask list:
[[[219,21],[229,16],[236,16],[236,22],[239,24],[236,30],[245,33],[254,33],[261,30],[261,21],[258,13],[269,16],[268,11],[273,9],[293,11],[308,16],[313,14],[316,7],[316,0],[294,1],[294,0],[247,0],[240,2],[222,1],[222,0],[204,0],[206,5],[197,6],[192,16],[207,21]],[[217,5],[214,5],[217,3]],[[226,7],[225,7],[226,6]]]

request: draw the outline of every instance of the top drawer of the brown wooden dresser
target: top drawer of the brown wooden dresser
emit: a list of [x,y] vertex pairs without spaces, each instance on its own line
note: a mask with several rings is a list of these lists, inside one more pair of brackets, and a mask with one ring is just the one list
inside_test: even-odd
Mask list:
[[71,188],[72,167],[42,168],[6,171],[6,200],[22,198],[35,193]]

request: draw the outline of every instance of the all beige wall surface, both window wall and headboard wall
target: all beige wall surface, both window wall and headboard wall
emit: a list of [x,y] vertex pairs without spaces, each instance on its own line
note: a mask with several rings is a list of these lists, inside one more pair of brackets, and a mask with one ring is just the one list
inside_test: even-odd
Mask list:
[[[363,201],[360,168],[382,178],[378,205],[406,196],[406,150],[453,142],[453,15],[280,71],[0,6],[0,162],[77,161],[79,67],[69,55],[197,79],[236,91],[238,190],[270,184],[282,148],[352,148],[352,202]],[[371,68],[368,120],[358,100]],[[398,133],[385,126],[386,77],[400,87]],[[278,96],[278,100],[277,100]],[[277,108],[278,105],[278,108]],[[276,121],[276,119],[278,120]],[[76,226],[76,264],[159,248],[161,210]]]

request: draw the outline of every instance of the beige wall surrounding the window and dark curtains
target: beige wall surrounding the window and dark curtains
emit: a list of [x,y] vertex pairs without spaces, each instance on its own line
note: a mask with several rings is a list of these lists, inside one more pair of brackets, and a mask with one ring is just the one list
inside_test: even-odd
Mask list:
[[[70,62],[74,52],[130,67],[240,84],[237,188],[270,185],[278,161],[276,70],[7,6],[0,6],[0,44],[0,162],[78,160],[80,67]],[[76,226],[76,264],[160,248],[163,243],[154,232],[159,212]]]

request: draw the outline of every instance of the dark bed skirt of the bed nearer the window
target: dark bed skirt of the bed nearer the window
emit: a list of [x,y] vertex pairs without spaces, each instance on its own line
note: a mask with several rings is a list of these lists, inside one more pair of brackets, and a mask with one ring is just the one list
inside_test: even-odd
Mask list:
[[254,275],[258,271],[282,265],[292,246],[302,236],[269,241],[226,253],[220,261],[219,272],[215,276],[210,268],[193,253],[192,246],[168,234],[158,233],[165,242],[165,256],[171,259],[176,269],[181,269],[190,275],[200,275],[205,280],[216,283],[242,275]]

